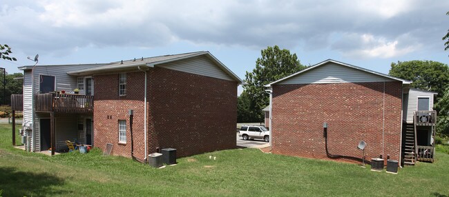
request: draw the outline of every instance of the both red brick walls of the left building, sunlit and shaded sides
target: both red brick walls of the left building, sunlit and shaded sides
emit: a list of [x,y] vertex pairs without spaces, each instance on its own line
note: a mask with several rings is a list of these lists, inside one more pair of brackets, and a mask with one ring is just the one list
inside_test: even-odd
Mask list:
[[[126,96],[118,74],[95,76],[94,142],[131,157],[128,110],[134,110],[134,155],[144,156],[144,72],[128,72]],[[147,72],[148,154],[173,147],[177,156],[236,147],[237,83],[164,68]],[[108,119],[108,116],[112,118]],[[118,120],[126,120],[126,145],[118,143]]]

